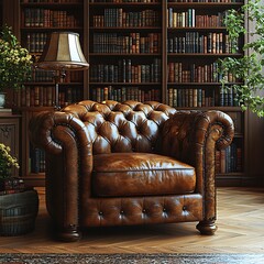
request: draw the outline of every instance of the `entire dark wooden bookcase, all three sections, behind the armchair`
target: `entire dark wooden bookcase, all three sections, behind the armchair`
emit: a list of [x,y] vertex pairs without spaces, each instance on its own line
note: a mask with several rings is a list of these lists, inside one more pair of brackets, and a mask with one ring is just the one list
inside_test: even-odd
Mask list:
[[[14,4],[16,34],[35,61],[50,32],[80,34],[90,67],[62,79],[62,107],[80,99],[131,99],[156,100],[178,110],[224,111],[234,121],[235,136],[224,152],[216,152],[217,182],[245,185],[248,112],[235,105],[232,90],[221,89],[217,74],[218,58],[242,55],[242,51],[231,54],[223,25],[227,10],[240,8],[241,0],[21,0]],[[229,81],[240,80],[229,76]],[[23,123],[22,175],[33,183],[44,178],[45,164],[43,154],[30,146],[28,123],[37,111],[53,109],[53,73],[35,69],[32,81],[14,98]]]

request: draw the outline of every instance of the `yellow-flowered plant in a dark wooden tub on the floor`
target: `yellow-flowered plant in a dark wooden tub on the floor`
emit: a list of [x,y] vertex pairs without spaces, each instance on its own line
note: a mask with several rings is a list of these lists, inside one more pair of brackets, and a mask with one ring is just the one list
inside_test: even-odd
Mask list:
[[19,168],[10,147],[0,143],[0,235],[19,235],[34,230],[38,211],[36,190],[24,186],[22,178],[12,177]]

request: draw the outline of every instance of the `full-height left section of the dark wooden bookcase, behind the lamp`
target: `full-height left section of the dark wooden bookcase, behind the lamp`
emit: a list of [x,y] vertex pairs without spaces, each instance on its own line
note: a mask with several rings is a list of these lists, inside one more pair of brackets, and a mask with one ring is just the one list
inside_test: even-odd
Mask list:
[[[33,62],[37,63],[46,41],[52,32],[70,31],[79,33],[85,46],[85,8],[84,0],[21,0],[15,3],[18,12],[18,36],[21,45],[26,47]],[[15,12],[15,11],[14,11]],[[35,66],[35,64],[34,64]],[[21,154],[22,176],[33,185],[43,185],[45,158],[44,153],[34,148],[29,141],[28,125],[32,116],[40,111],[54,110],[55,75],[33,66],[32,79],[24,88],[13,95],[13,110],[22,116]],[[58,103],[65,107],[84,99],[82,72],[65,72],[58,80]]]

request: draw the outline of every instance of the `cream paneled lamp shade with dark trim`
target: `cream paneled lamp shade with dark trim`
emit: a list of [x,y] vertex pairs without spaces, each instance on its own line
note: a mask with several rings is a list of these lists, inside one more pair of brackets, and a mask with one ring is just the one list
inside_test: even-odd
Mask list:
[[88,66],[79,34],[73,32],[53,32],[37,62],[38,68],[50,70],[82,70]]

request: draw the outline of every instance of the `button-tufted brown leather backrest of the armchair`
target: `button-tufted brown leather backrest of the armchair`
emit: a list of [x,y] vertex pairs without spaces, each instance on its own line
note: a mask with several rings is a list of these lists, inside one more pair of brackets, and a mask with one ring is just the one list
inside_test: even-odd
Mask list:
[[88,128],[94,154],[112,152],[157,152],[161,129],[176,112],[166,105],[148,101],[86,100],[62,111],[78,117]]

